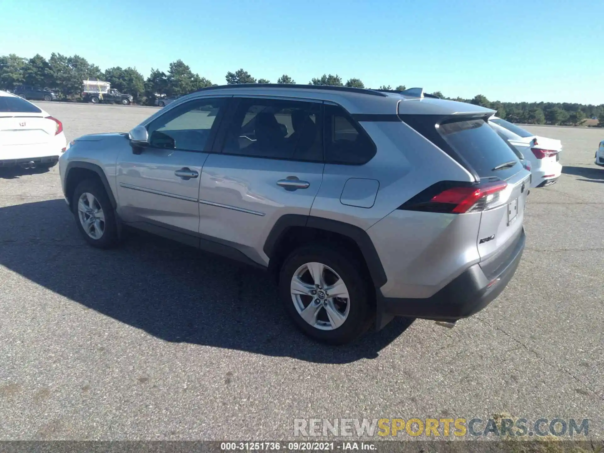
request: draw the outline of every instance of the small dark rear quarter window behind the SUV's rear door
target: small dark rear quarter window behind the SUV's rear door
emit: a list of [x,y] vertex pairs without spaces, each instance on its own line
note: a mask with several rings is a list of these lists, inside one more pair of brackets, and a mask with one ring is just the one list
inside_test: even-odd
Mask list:
[[325,161],[330,164],[362,165],[376,155],[367,133],[339,106],[325,106]]

